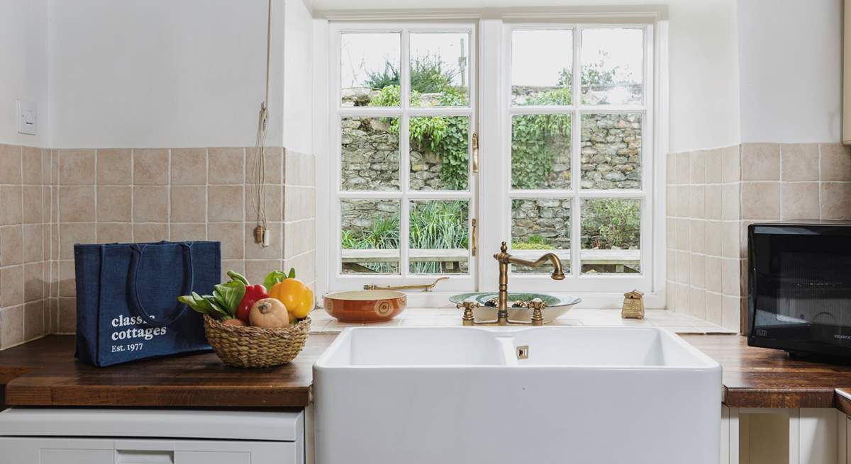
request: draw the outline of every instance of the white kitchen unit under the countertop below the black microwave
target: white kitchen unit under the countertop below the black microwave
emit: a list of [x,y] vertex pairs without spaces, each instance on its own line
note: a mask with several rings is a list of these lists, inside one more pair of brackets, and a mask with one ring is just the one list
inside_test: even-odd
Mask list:
[[721,464],[849,464],[848,422],[832,408],[722,406]]

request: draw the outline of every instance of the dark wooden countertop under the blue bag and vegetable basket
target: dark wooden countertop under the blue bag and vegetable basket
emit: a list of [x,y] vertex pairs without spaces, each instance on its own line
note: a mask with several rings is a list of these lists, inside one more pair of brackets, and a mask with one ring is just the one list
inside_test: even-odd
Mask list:
[[9,406],[303,407],[334,338],[311,334],[293,363],[242,370],[213,353],[99,368],[74,359],[74,337],[50,336],[0,351],[0,382]]

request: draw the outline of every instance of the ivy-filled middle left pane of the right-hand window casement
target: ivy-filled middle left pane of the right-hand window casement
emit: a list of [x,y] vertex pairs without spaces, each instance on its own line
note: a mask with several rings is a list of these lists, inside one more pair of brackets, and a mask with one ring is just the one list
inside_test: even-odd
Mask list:
[[511,187],[570,189],[570,115],[511,117]]

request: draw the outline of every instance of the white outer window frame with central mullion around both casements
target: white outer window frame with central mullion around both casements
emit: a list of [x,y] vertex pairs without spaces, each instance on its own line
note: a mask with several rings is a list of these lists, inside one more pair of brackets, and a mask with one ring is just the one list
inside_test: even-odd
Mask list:
[[[331,85],[322,84],[315,86],[317,92],[314,95],[316,108],[314,125],[314,148],[317,155],[317,291],[323,293],[338,288],[344,288],[337,284],[338,269],[340,266],[339,251],[339,212],[332,211],[333,191],[339,188],[339,167],[334,165],[334,151],[339,152],[339,143],[334,139],[334,133],[338,133],[339,126],[334,127],[332,116],[334,109],[339,106],[340,86],[337,85],[334,76],[339,71],[339,59],[332,46],[336,43],[339,50],[339,41],[334,38],[335,33],[341,29],[360,27],[368,23],[348,23],[346,21],[371,21],[385,30],[388,21],[391,27],[402,23],[422,24],[420,21],[437,21],[441,24],[458,25],[454,20],[463,19],[472,22],[477,33],[471,34],[471,40],[477,39],[477,53],[471,54],[471,84],[478,84],[477,92],[471,90],[471,108],[477,116],[478,133],[481,143],[480,176],[471,176],[471,192],[476,191],[471,202],[471,218],[478,218],[478,257],[471,260],[471,267],[476,262],[478,267],[475,282],[465,287],[467,290],[476,287],[478,291],[495,291],[497,286],[497,266],[493,262],[493,253],[499,246],[501,240],[509,240],[511,232],[511,203],[510,195],[505,189],[510,178],[510,127],[505,127],[510,122],[509,106],[511,92],[511,67],[503,65],[511,62],[511,42],[506,42],[506,36],[510,39],[511,27],[517,26],[540,26],[551,25],[565,28],[568,25],[588,26],[625,26],[642,25],[649,28],[652,33],[645,33],[645,60],[644,60],[644,93],[646,95],[645,110],[652,116],[643,121],[643,193],[638,195],[643,198],[642,207],[642,267],[643,273],[636,275],[595,275],[583,276],[578,273],[579,268],[575,257],[572,259],[574,275],[568,280],[561,282],[547,282],[546,274],[543,276],[527,276],[523,274],[511,274],[509,288],[517,290],[529,289],[530,285],[541,290],[554,293],[576,295],[583,298],[580,308],[618,308],[623,301],[622,292],[632,288],[641,288],[645,291],[645,305],[648,308],[665,307],[665,154],[668,147],[668,87],[667,87],[667,18],[664,8],[636,7],[625,11],[624,8],[612,8],[610,12],[605,10],[589,8],[555,8],[547,10],[529,10],[527,12],[515,10],[497,11],[491,10],[487,14],[474,11],[457,12],[452,10],[435,10],[429,13],[399,14],[398,12],[370,12],[370,13],[340,13],[325,14],[324,18],[314,20],[314,50],[315,61],[313,73],[317,82],[329,82]],[[339,22],[338,22],[339,21]],[[398,22],[395,22],[398,21]],[[574,39],[575,40],[575,39]],[[577,44],[579,42],[576,42]],[[403,44],[403,59],[407,57],[407,50]],[[472,49],[472,48],[471,48]],[[580,49],[579,46],[576,48]],[[477,60],[477,62],[476,62]],[[578,59],[574,57],[574,66],[580,66]],[[478,76],[474,81],[473,76]],[[404,81],[404,79],[403,79]],[[575,80],[574,80],[575,81]],[[474,83],[475,82],[475,83]],[[407,83],[407,82],[406,82]],[[574,85],[578,85],[577,82]],[[330,89],[330,92],[328,92]],[[478,100],[478,105],[475,101]],[[574,101],[579,101],[575,99]],[[327,109],[327,110],[325,110]],[[581,110],[581,109],[580,109]],[[596,109],[595,109],[596,110]],[[616,112],[614,107],[608,112]],[[634,108],[630,108],[634,110]],[[521,110],[523,111],[523,110]],[[597,111],[604,112],[604,111]],[[574,117],[575,125],[579,120]],[[473,127],[476,127],[475,125]],[[328,134],[331,137],[328,137]],[[406,134],[407,136],[407,134]],[[506,142],[506,139],[507,142]],[[407,140],[400,140],[405,147],[400,146],[401,156],[407,156]],[[578,147],[574,147],[578,150]],[[499,153],[499,156],[491,156]],[[507,160],[507,162],[505,162]],[[578,167],[577,163],[572,164]],[[404,170],[404,168],[403,168]],[[577,172],[578,173],[578,172]],[[330,174],[330,175],[329,175]],[[577,176],[574,174],[574,178]],[[329,185],[328,183],[333,183]],[[476,185],[477,184],[477,185]],[[540,192],[544,196],[551,195],[548,190]],[[594,192],[588,192],[593,195]],[[492,197],[497,195],[498,202],[488,205],[477,205],[478,214],[473,209],[477,198]],[[522,195],[534,195],[524,192]],[[589,196],[591,196],[589,195]],[[610,195],[601,196],[625,197],[622,190],[612,191]],[[418,195],[419,197],[419,195]],[[572,236],[578,243],[579,215],[577,210],[572,214],[573,230]],[[336,218],[336,219],[334,219]],[[334,229],[334,223],[337,229]],[[334,232],[334,231],[338,232]],[[323,246],[323,244],[327,244]],[[572,249],[576,248],[572,246]],[[572,251],[573,252],[573,251]],[[493,264],[493,265],[490,265]],[[362,276],[363,277],[363,276]],[[457,276],[452,276],[456,278]],[[420,279],[407,279],[406,284],[425,283],[432,277]],[[367,282],[368,280],[368,282]],[[374,283],[378,285],[390,285],[380,281],[380,276],[365,276],[363,280],[348,279],[346,289],[358,288],[362,283]],[[537,283],[535,283],[537,282]],[[460,290],[456,286],[447,286],[442,282],[436,291],[430,293],[410,293],[409,305],[412,306],[447,306],[447,297]],[[561,284],[561,285],[559,285]]]

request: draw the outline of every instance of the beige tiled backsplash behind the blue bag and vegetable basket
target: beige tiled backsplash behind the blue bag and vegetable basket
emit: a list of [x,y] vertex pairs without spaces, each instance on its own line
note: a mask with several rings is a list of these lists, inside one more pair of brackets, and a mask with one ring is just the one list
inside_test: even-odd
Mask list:
[[75,243],[219,240],[223,272],[295,267],[313,285],[313,156],[266,149],[266,248],[252,234],[256,160],[254,147],[0,145],[0,347],[74,331]]

